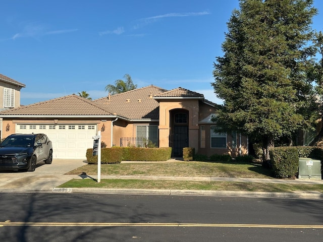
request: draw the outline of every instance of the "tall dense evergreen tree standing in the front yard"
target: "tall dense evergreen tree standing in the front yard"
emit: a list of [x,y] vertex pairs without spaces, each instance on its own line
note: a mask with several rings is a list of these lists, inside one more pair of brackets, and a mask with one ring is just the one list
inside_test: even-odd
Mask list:
[[306,78],[317,10],[312,0],[240,0],[228,22],[223,56],[214,63],[214,93],[224,100],[214,122],[259,140],[265,151],[309,125]]

